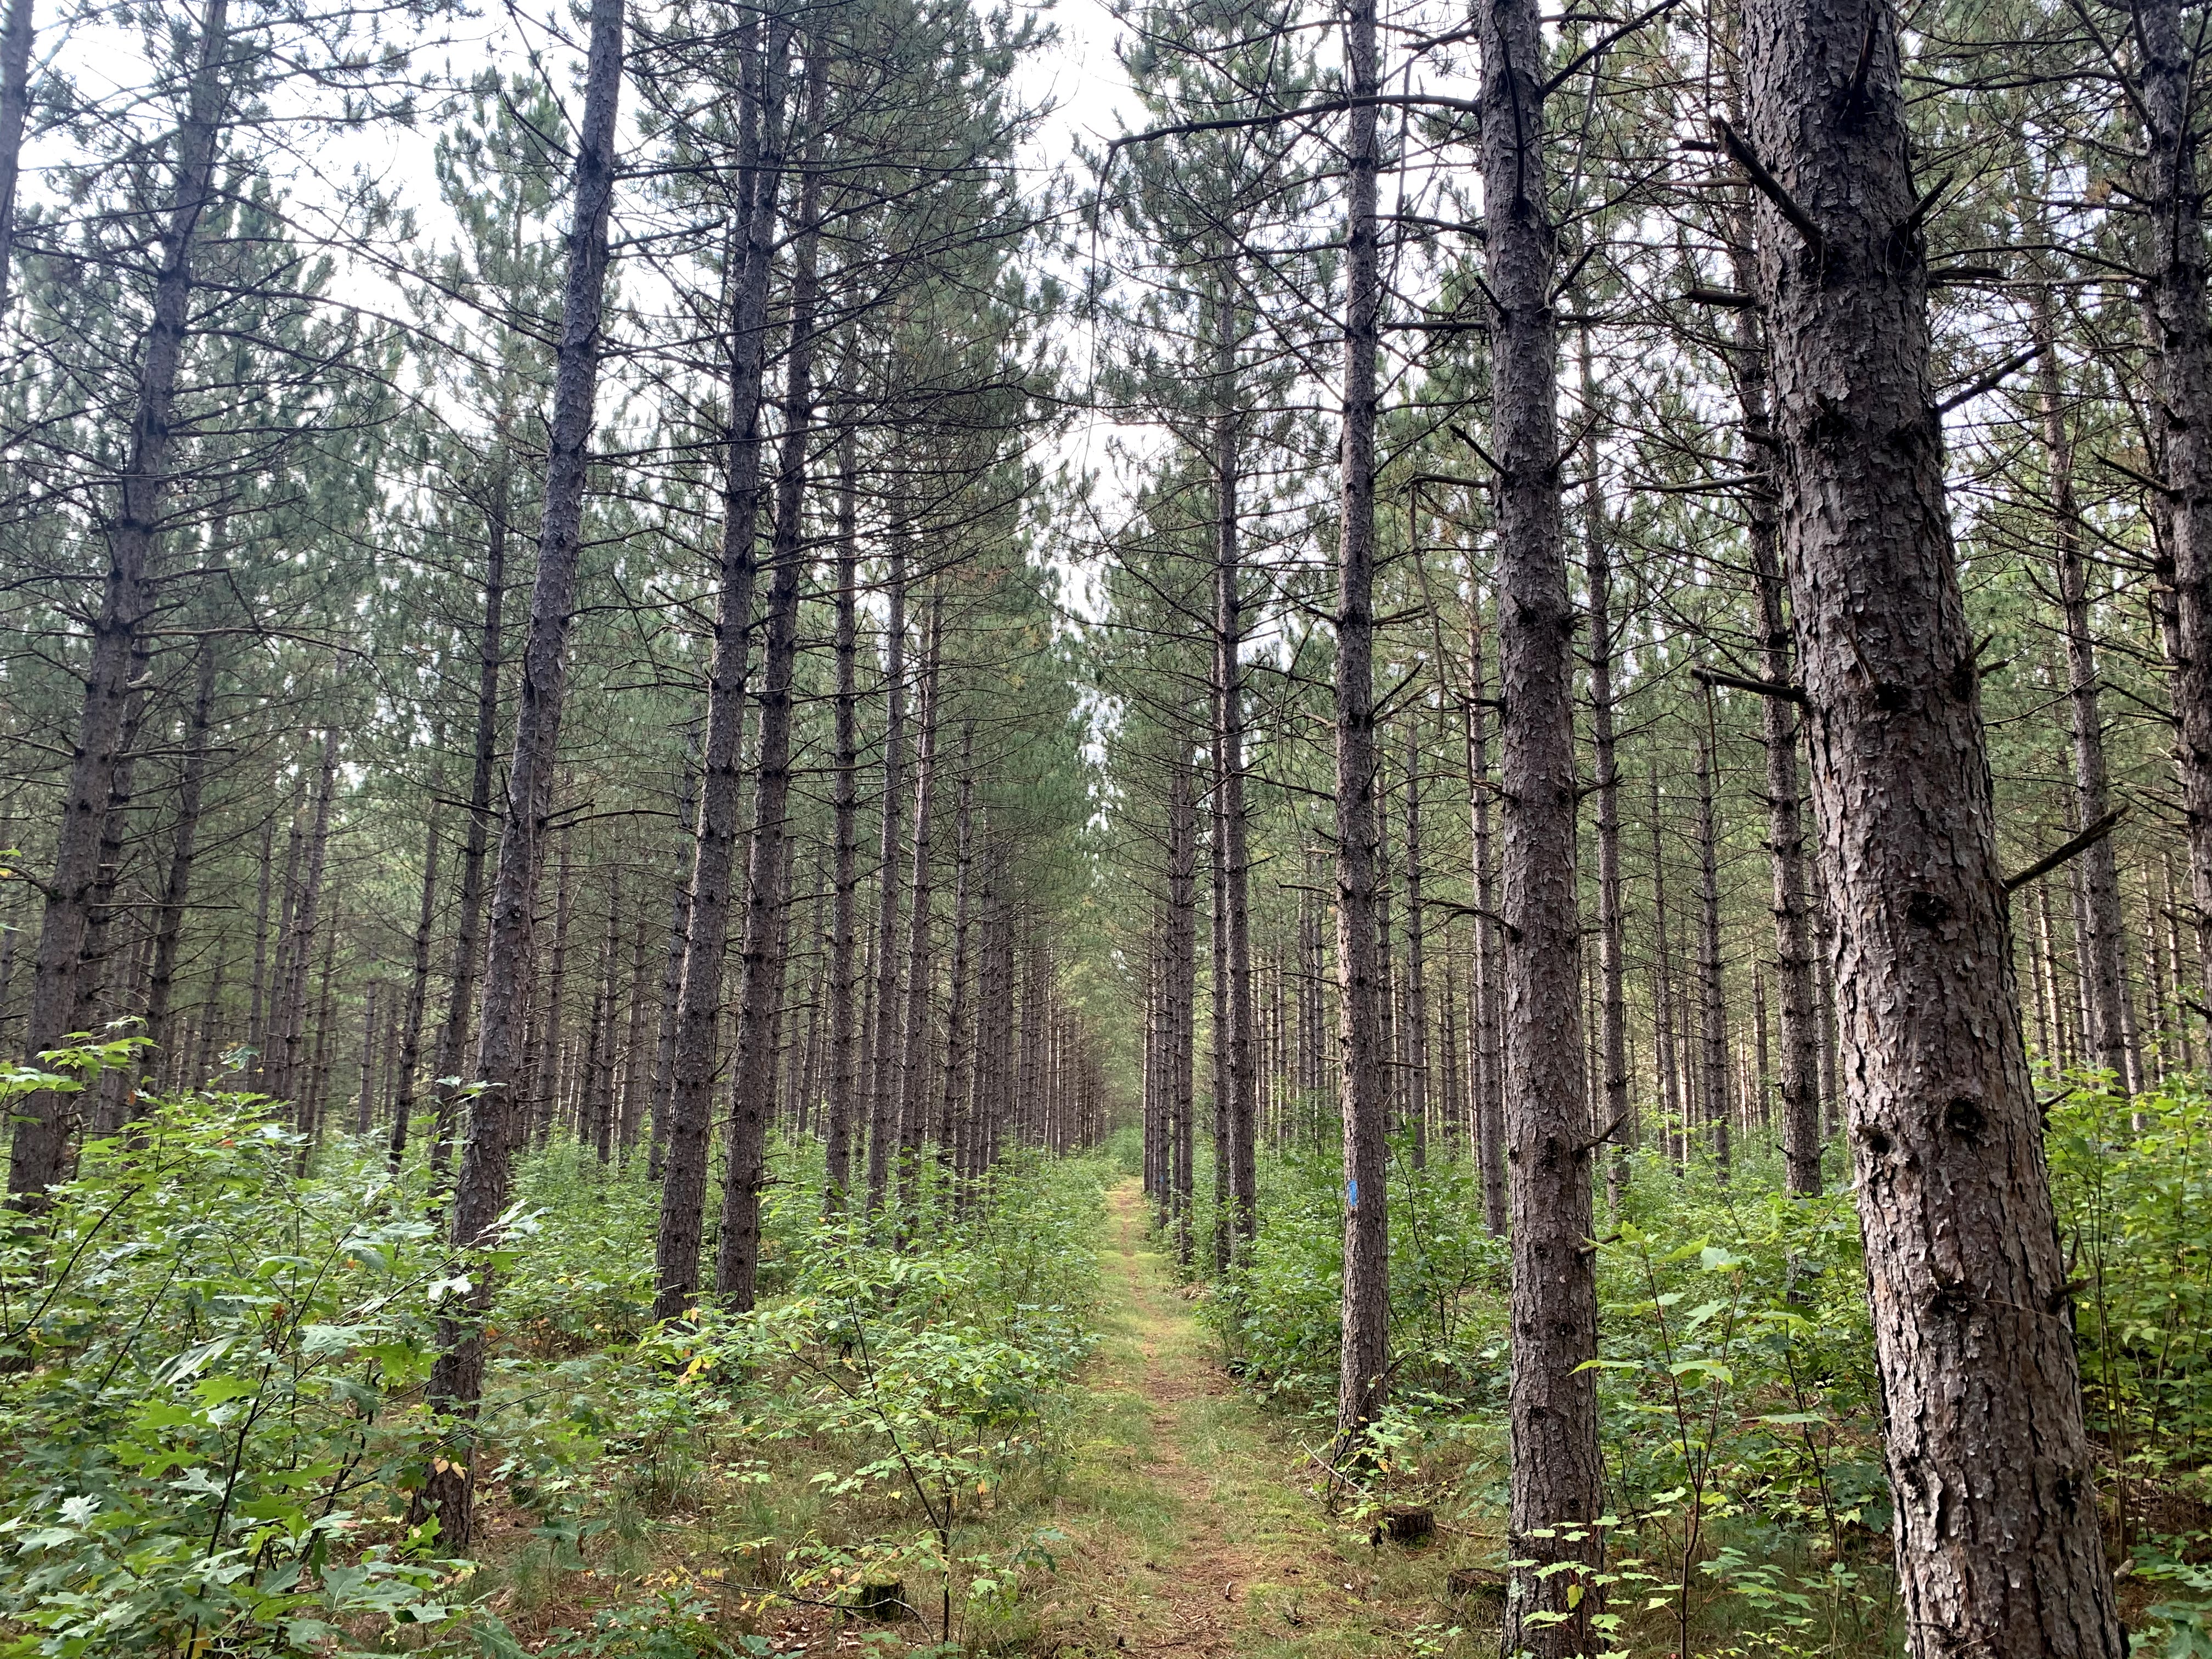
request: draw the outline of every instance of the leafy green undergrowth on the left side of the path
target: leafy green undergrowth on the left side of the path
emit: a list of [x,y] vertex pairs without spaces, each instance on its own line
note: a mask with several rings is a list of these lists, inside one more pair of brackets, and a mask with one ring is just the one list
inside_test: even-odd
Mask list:
[[[378,1146],[303,1161],[263,1099],[150,1102],[0,1245],[0,1655],[765,1655],[863,1595],[876,1641],[969,1650],[1046,1575],[1102,1166],[925,1172],[872,1232],[779,1148],[761,1307],[655,1327],[639,1168],[526,1157],[484,1263]],[[438,1310],[487,1267],[458,1559],[405,1515]]]

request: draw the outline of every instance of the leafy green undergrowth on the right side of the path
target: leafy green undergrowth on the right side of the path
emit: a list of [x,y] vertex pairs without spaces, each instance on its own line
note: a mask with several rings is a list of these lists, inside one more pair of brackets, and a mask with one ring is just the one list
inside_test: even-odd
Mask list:
[[[2124,1102],[2068,1082],[2046,1144],[2108,1553],[2137,1648],[2212,1659],[2212,1108],[2194,1088]],[[1502,1540],[1509,1252],[1471,1159],[1431,1146],[1425,1164],[1394,1144],[1391,1402],[1356,1502],[1431,1504],[1458,1540]],[[1708,1157],[1644,1150],[1617,1208],[1599,1199],[1608,1513],[1593,1588],[1619,1652],[1902,1648],[1845,1148],[1827,1172],[1825,1197],[1792,1199],[1772,1146],[1739,1146],[1728,1179]],[[1340,1239],[1334,1150],[1281,1150],[1263,1161],[1259,1237],[1206,1301],[1230,1369],[1318,1438],[1336,1409]],[[1498,1577],[1509,1564],[1498,1542],[1478,1557]]]

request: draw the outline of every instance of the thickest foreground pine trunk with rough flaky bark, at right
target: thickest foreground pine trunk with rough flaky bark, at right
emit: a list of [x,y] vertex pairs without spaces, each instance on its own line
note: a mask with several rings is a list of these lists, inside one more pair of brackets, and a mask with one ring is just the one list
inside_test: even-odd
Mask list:
[[[2119,1659],[1951,553],[1896,27],[1882,0],[1745,0],[1743,64],[1750,153],[1798,219],[1759,208],[1759,299],[1905,1630],[1924,1659]],[[2201,305],[2192,327],[2203,349]]]

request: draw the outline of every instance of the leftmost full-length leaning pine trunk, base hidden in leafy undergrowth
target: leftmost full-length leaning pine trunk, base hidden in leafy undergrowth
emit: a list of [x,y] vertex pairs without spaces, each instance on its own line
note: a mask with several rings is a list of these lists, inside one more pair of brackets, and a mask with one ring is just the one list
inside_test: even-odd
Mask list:
[[[18,18],[20,9],[20,18]],[[226,119],[228,42],[226,0],[208,0],[199,24],[199,51],[186,88],[186,115],[177,128],[177,184],[153,283],[150,316],[139,352],[137,405],[119,469],[115,518],[106,531],[108,568],[93,615],[91,653],[84,661],[84,706],[77,714],[69,781],[62,787],[62,823],[53,838],[53,878],[38,929],[31,969],[31,1013],[24,1048],[40,1055],[71,1033],[80,1006],[84,936],[91,925],[93,887],[100,883],[100,836],[106,823],[115,768],[122,763],[122,730],[128,710],[131,664],[139,653],[139,628],[153,613],[153,560],[161,542],[170,465],[177,436],[170,409],[184,338],[190,325],[192,239],[215,192],[215,157]],[[0,100],[7,97],[9,55],[31,53],[31,11],[11,0],[7,38],[0,40]],[[0,111],[4,117],[4,111]],[[20,131],[20,128],[18,128]],[[13,184],[13,181],[11,181]],[[4,204],[13,223],[13,201]],[[7,250],[0,250],[7,252]],[[0,259],[0,272],[7,270]],[[7,1190],[22,1210],[44,1210],[46,1188],[62,1179],[71,1130],[71,1095],[38,1093],[11,1104],[15,1133],[9,1139]]]

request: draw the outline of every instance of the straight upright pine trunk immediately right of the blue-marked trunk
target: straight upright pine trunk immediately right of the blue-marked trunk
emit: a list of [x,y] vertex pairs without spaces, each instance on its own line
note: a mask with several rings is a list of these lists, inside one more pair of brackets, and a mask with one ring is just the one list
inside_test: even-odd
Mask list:
[[[1559,522],[1557,232],[1544,177],[1544,33],[1535,0],[1480,13],[1482,199],[1498,458],[1498,686],[1504,803],[1504,1117],[1513,1203],[1509,1650],[1590,1650],[1604,1590],[1597,1453],[1597,1261],[1582,1048],[1575,869],[1575,606]],[[1564,1571],[1559,1571],[1564,1566]],[[1531,1615],[1564,1615],[1544,1624]]]

